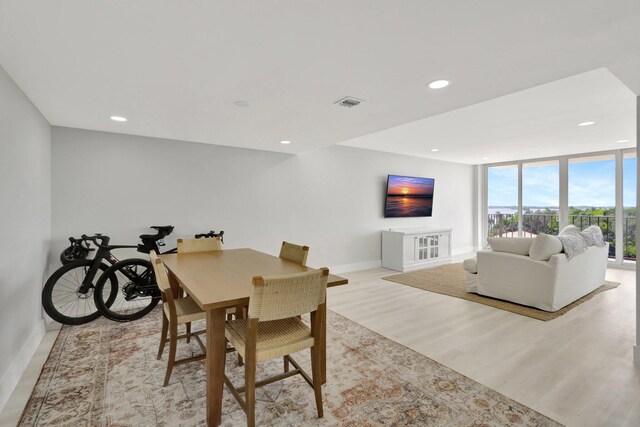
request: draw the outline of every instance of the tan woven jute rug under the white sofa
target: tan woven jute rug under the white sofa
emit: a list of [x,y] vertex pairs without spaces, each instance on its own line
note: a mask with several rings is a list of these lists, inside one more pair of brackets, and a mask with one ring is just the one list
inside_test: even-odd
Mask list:
[[423,289],[425,291],[435,292],[438,294],[449,295],[456,298],[462,298],[467,301],[473,301],[490,307],[499,308],[501,310],[510,311],[522,316],[532,317],[538,320],[553,320],[562,316],[569,310],[576,308],[585,301],[589,301],[595,295],[609,289],[617,288],[620,283],[609,282],[605,280],[602,286],[595,291],[583,296],[579,300],[572,302],[566,307],[561,308],[553,313],[538,310],[537,308],[527,307],[515,304],[509,301],[485,297],[482,295],[467,292],[467,283],[462,263],[446,264],[433,268],[425,268],[422,270],[411,271],[408,273],[394,274],[393,276],[383,277],[390,282],[400,283],[402,285],[411,286],[413,288]]

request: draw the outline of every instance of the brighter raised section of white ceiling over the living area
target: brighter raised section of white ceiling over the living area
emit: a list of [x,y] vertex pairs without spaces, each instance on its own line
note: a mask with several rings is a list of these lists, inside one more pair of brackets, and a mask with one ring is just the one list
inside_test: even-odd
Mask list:
[[636,96],[600,68],[342,144],[469,164],[628,148]]

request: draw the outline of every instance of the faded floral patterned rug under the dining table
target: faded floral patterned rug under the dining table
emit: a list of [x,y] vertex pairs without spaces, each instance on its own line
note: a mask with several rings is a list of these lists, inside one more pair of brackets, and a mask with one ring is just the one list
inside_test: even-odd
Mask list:
[[[160,310],[132,323],[62,328],[19,426],[204,426],[204,362],[176,366],[162,387]],[[558,426],[557,422],[338,314],[328,313],[324,418],[300,376],[259,388],[263,426]],[[201,326],[201,325],[195,325]],[[197,345],[178,343],[178,357]],[[183,345],[180,345],[183,344]],[[297,355],[309,367],[308,351]],[[234,354],[226,370],[243,383]],[[258,378],[281,360],[261,363]],[[246,425],[225,388],[223,426]]]

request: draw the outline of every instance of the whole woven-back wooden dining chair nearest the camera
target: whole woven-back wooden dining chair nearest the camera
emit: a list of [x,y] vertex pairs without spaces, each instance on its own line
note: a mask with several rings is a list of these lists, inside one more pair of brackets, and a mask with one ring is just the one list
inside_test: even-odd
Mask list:
[[[321,349],[318,337],[324,318],[318,306],[325,301],[329,270],[312,270],[286,276],[253,278],[247,318],[227,322],[225,337],[244,359],[244,386],[236,388],[227,375],[224,382],[255,425],[255,389],[300,374],[313,388],[318,418],[322,418]],[[311,327],[297,316],[311,313]],[[290,356],[311,349],[311,377]],[[257,362],[283,357],[295,369],[256,382]],[[241,393],[245,394],[243,399]]]

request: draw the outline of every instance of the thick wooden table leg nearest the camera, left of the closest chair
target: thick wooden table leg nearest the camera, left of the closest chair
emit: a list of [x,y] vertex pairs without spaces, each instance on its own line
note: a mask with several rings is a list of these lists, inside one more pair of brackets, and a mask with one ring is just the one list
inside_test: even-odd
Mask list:
[[224,339],[224,308],[207,310],[207,425],[218,426],[222,420],[224,362],[227,356]]

